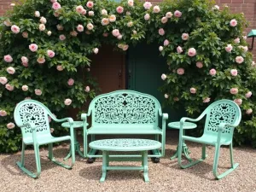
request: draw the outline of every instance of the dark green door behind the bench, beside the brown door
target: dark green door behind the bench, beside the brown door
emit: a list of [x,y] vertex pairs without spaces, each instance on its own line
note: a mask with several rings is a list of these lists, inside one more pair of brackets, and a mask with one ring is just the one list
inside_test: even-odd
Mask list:
[[[161,103],[165,96],[159,87],[164,84],[160,78],[162,73],[168,72],[166,59],[160,55],[158,44],[137,44],[129,47],[126,55],[126,88],[137,90],[155,96]],[[183,110],[163,108],[169,114],[168,122],[177,121],[184,116]]]

